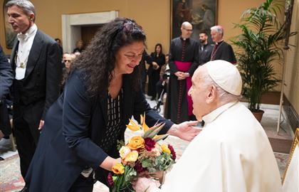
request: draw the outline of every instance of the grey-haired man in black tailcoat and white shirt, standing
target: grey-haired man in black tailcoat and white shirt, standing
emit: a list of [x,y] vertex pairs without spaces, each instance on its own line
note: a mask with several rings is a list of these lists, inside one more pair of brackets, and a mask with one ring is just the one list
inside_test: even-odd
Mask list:
[[58,98],[61,83],[61,50],[53,38],[38,30],[35,9],[30,1],[6,4],[9,23],[18,40],[11,53],[14,72],[14,131],[21,174],[26,176],[33,157],[43,118]]

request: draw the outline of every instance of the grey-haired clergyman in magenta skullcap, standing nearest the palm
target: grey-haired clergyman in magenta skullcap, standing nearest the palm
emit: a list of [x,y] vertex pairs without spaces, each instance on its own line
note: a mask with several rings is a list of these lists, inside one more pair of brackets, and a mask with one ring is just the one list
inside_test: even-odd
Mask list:
[[215,45],[210,60],[226,60],[229,63],[236,64],[234,50],[229,43],[224,41],[223,37],[224,28],[222,26],[211,27],[211,38]]

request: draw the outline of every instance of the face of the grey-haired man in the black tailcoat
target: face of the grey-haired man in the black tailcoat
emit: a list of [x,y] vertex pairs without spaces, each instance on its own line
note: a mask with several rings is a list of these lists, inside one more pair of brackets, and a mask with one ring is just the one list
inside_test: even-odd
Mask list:
[[19,6],[10,6],[7,10],[7,16],[14,32],[26,33],[31,23],[33,23],[34,15],[28,16]]

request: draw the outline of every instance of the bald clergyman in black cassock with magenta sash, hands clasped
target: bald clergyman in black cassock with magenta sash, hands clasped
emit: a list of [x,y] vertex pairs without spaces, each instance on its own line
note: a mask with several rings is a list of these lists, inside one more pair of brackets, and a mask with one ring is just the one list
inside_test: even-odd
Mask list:
[[191,78],[199,65],[199,43],[190,38],[192,24],[182,23],[182,36],[172,39],[169,48],[169,87],[164,116],[180,123],[195,119],[192,99],[187,95],[192,86]]

